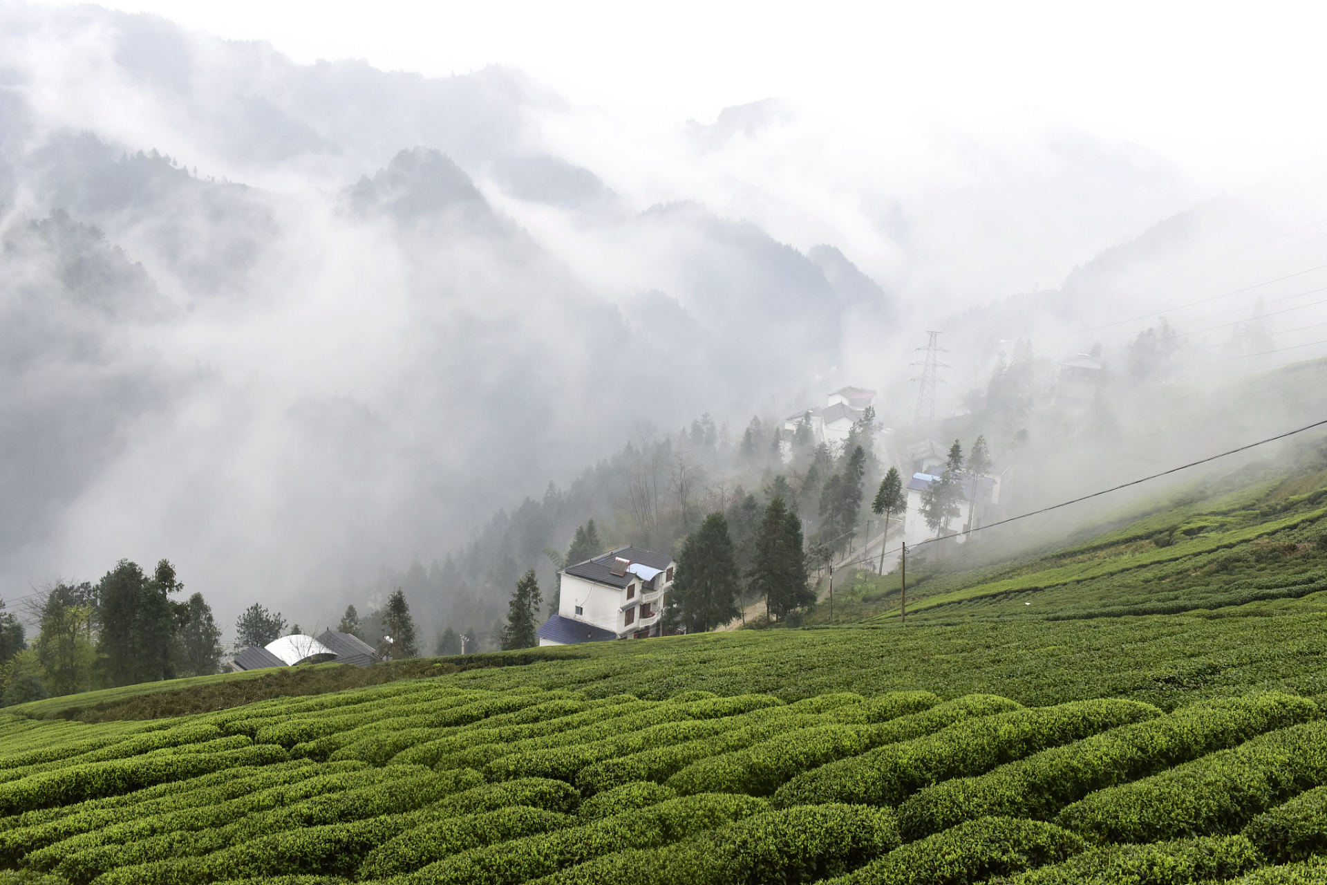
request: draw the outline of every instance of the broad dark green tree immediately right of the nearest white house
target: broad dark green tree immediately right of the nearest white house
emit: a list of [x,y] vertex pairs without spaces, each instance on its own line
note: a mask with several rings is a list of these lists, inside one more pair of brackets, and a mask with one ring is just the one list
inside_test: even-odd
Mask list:
[[677,556],[673,601],[686,632],[705,633],[738,617],[739,581],[727,520],[710,513]]

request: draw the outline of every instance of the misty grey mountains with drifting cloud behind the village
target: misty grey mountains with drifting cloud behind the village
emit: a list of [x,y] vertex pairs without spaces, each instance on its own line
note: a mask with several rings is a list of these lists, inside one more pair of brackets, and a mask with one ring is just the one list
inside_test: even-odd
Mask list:
[[[909,414],[937,320],[947,414],[1002,340],[1089,346],[1152,297],[1119,285],[1287,227],[1194,210],[1173,248],[1087,264],[1196,188],[1062,133],[859,180],[776,100],[633,150],[518,70],[300,65],[97,7],[0,8],[0,61],[5,598],[162,556],[223,624],[256,600],[332,624],[434,560],[410,580],[500,593],[541,545],[490,515],[648,427],[739,434],[843,383]],[[993,304],[1024,264],[1056,279]],[[549,536],[583,517],[559,507]],[[463,567],[476,532],[498,559]]]

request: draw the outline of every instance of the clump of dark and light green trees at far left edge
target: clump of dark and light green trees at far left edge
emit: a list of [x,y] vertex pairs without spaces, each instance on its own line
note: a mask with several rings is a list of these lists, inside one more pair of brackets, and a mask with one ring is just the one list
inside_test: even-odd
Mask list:
[[202,593],[171,598],[183,589],[169,560],[161,560],[151,576],[121,560],[97,584],[50,588],[31,646],[23,625],[4,612],[4,703],[216,673],[220,629]]

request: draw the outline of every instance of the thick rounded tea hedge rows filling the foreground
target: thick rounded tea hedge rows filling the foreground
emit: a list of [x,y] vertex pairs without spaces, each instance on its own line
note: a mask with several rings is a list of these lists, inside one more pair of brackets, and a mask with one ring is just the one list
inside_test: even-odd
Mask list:
[[920,690],[642,699],[462,677],[153,723],[5,716],[0,864],[19,872],[0,881],[1031,885],[1327,872],[1327,719],[1286,691],[1166,711]]

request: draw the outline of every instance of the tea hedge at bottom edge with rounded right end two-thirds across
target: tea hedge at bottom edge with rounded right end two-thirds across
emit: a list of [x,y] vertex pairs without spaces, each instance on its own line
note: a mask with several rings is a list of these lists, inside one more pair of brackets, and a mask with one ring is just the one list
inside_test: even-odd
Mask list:
[[764,812],[685,843],[629,849],[539,885],[784,885],[839,876],[898,847],[894,816],[864,805]]

